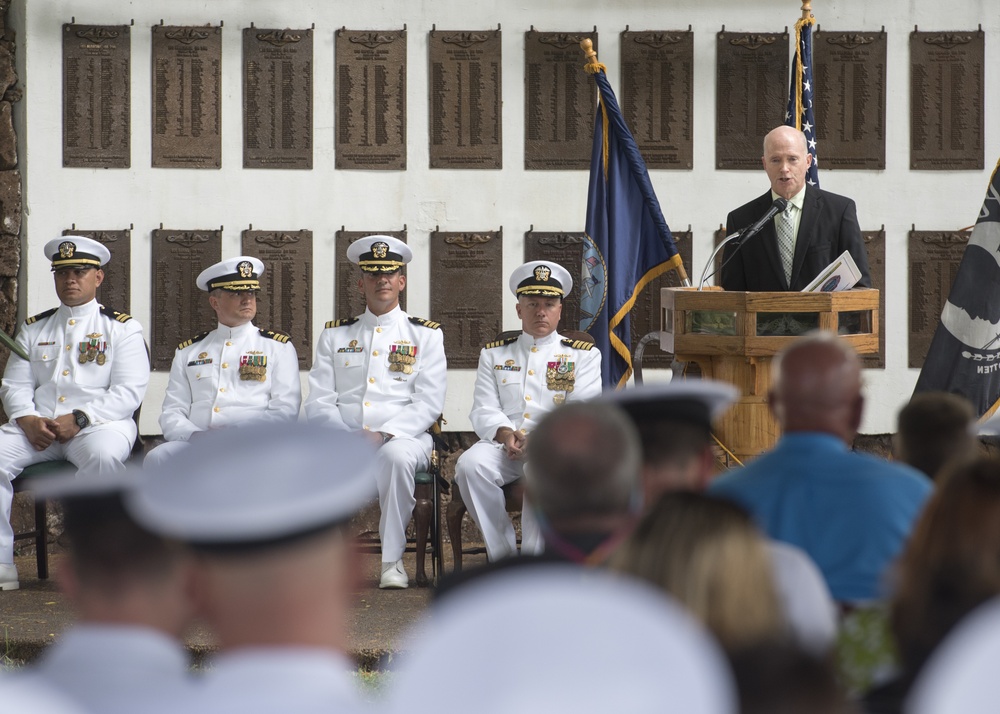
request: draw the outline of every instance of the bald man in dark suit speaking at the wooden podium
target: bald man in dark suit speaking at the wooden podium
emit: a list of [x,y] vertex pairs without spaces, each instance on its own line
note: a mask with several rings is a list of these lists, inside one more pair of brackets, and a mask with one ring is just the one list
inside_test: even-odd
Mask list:
[[788,201],[788,208],[738,250],[735,242],[726,247],[722,287],[802,290],[845,250],[861,271],[858,287],[871,287],[854,201],[806,185],[812,155],[805,135],[790,126],[772,130],[764,137],[763,162],[771,190],[731,212],[726,233],[755,222],[779,197]]

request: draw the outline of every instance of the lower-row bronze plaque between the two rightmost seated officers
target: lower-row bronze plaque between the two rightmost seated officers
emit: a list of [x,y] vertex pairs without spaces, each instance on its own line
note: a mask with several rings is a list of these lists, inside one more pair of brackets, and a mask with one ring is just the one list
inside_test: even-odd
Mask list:
[[[475,369],[503,325],[503,230],[431,233],[431,315],[452,369]],[[513,300],[513,296],[510,296]]]

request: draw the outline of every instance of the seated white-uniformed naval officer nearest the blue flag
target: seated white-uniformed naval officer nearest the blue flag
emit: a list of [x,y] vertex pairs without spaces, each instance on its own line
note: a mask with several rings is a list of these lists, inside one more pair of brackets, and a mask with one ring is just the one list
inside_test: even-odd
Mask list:
[[[491,561],[517,553],[502,487],[524,473],[531,430],[559,404],[601,393],[601,353],[589,342],[566,339],[556,328],[573,278],[556,263],[535,260],[517,268],[510,290],[517,298],[521,334],[491,342],[479,356],[469,418],[481,441],[458,459],[455,483],[482,531]],[[541,550],[538,523],[525,503],[521,547]]]

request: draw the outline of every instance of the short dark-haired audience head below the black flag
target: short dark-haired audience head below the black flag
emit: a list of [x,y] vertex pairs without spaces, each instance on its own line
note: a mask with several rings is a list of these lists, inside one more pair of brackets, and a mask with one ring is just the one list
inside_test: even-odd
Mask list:
[[975,422],[972,404],[964,397],[948,392],[915,394],[899,412],[894,455],[936,478],[952,459],[976,455]]

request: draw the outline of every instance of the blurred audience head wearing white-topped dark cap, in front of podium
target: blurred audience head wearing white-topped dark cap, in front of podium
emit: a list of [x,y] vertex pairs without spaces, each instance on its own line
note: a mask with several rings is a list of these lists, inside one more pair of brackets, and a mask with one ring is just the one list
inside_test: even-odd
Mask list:
[[667,491],[700,491],[715,470],[712,423],[736,401],[731,384],[675,379],[607,394],[632,420],[642,444],[642,481],[647,506]]

